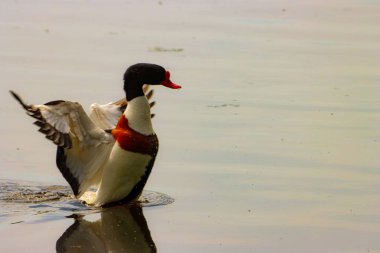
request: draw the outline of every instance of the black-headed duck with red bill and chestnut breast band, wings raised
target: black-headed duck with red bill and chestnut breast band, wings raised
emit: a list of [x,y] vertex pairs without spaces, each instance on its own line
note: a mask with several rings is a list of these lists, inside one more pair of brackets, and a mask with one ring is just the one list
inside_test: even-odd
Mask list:
[[59,171],[74,196],[87,205],[103,207],[139,198],[159,148],[150,86],[181,88],[171,81],[169,71],[152,63],[128,67],[123,80],[125,98],[92,104],[89,114],[78,102],[26,104],[10,91],[36,120],[39,131],[57,146]]

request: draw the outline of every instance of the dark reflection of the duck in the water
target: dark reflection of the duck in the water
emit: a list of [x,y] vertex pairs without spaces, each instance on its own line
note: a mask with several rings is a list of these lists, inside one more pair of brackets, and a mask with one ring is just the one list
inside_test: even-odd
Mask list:
[[96,221],[76,215],[57,252],[157,252],[139,205],[105,208]]

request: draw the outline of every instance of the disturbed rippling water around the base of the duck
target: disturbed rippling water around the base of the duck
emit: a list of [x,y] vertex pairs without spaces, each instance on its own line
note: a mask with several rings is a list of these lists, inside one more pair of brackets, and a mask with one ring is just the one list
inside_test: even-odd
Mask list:
[[[137,204],[142,207],[168,205],[174,202],[170,196],[144,190]],[[62,185],[41,185],[35,182],[0,180],[0,219],[17,215],[49,219],[98,213],[102,208],[87,206],[74,198],[70,187]],[[34,222],[36,221],[33,218]],[[16,220],[12,224],[24,222]]]

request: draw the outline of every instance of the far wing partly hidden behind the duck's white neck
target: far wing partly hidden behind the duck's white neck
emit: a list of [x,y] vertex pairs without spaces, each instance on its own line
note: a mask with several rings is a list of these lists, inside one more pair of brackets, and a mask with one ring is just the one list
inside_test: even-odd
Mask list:
[[[149,105],[152,108],[155,105],[155,102],[151,101],[153,97],[153,90],[149,89],[149,85],[144,86],[144,93],[150,101]],[[127,105],[128,102],[125,98],[104,105],[94,103],[91,105],[91,112],[89,117],[98,127],[103,130],[114,129]],[[153,118],[154,114],[151,114],[151,117]]]

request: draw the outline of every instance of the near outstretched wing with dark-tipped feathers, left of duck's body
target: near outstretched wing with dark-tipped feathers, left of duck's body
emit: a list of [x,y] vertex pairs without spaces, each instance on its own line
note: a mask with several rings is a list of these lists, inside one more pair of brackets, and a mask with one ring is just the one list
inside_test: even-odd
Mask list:
[[112,135],[88,117],[76,102],[52,101],[27,105],[11,91],[35,125],[57,146],[57,166],[76,197],[100,182],[102,168],[114,144]]

